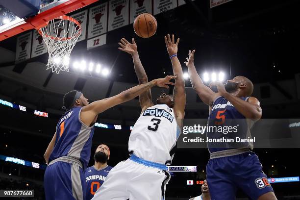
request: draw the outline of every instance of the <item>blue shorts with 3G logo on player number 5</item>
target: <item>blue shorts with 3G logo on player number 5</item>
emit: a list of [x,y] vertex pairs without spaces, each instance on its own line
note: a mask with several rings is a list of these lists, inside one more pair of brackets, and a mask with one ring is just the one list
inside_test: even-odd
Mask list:
[[251,200],[273,192],[257,155],[252,151],[210,159],[206,173],[212,200],[235,200],[237,188],[242,189]]

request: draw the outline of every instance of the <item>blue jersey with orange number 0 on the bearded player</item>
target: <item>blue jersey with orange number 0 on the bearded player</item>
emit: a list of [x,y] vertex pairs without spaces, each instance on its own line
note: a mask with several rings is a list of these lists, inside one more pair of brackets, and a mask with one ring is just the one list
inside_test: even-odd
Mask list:
[[94,166],[87,168],[85,172],[85,180],[87,183],[86,200],[91,200],[94,197],[95,192],[103,184],[111,169],[111,166],[107,166],[99,171],[96,170]]

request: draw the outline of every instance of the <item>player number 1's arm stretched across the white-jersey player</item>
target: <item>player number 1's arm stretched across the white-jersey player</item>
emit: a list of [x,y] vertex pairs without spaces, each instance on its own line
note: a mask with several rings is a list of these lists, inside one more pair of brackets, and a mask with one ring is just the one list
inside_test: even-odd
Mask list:
[[104,112],[105,110],[107,110],[115,105],[132,100],[135,97],[142,94],[143,92],[145,92],[146,90],[149,90],[153,86],[169,88],[169,86],[167,84],[175,85],[173,82],[170,81],[171,79],[173,79],[175,77],[176,76],[174,76],[174,75],[167,75],[164,78],[154,79],[148,83],[144,83],[144,84],[132,87],[128,90],[121,92],[120,94],[118,94],[116,96],[106,98],[103,100],[94,101],[94,102],[88,104],[87,106],[82,107],[80,119],[85,125],[90,125],[95,120],[95,117],[99,113]]

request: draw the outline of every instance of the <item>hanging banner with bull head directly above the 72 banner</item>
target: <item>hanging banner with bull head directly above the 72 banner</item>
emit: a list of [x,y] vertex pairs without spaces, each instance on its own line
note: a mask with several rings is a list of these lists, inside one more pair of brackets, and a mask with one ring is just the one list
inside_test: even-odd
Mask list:
[[107,2],[90,8],[88,39],[106,33]]

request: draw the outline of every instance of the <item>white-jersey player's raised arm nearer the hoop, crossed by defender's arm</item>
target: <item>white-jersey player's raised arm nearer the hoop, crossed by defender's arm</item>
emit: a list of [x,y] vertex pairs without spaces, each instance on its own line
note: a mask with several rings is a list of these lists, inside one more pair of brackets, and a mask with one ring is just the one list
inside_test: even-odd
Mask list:
[[[137,45],[134,41],[134,38],[132,38],[131,42],[132,44],[129,43],[125,38],[122,38],[121,43],[119,43],[121,48],[119,47],[118,49],[125,51],[132,56],[134,71],[136,76],[138,77],[139,84],[148,83],[148,77],[140,60]],[[139,95],[139,101],[142,108],[142,112],[144,112],[144,110],[152,106],[153,102],[151,100],[151,90],[149,89],[146,92]]]

